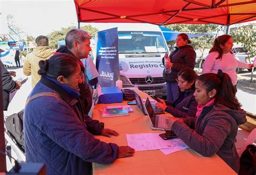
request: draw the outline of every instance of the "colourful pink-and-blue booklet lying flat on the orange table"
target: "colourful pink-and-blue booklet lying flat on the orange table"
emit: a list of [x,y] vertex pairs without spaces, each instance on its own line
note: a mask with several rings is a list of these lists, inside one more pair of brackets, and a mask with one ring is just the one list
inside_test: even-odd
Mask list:
[[100,117],[116,117],[116,116],[123,116],[129,115],[128,111],[124,108],[111,108],[111,109],[99,109]]

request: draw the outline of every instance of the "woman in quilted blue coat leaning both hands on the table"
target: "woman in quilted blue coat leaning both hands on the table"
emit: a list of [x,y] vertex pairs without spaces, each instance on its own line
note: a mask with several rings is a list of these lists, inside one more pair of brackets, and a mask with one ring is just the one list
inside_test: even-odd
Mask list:
[[26,162],[44,163],[47,174],[90,174],[92,162],[109,164],[133,156],[129,146],[105,143],[93,136],[119,134],[83,114],[77,59],[57,54],[41,60],[39,66],[42,78],[24,110]]

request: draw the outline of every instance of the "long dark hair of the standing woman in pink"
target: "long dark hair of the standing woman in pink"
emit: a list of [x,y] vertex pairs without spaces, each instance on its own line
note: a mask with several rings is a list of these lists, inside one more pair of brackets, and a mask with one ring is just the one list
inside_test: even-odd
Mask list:
[[225,43],[227,43],[228,39],[232,38],[229,34],[223,34],[222,36],[219,36],[217,38],[215,38],[214,40],[214,44],[213,47],[211,48],[211,50],[209,51],[209,53],[211,52],[218,52],[219,56],[216,58],[217,60],[222,58],[223,55],[223,50],[220,47],[220,45],[225,45]]

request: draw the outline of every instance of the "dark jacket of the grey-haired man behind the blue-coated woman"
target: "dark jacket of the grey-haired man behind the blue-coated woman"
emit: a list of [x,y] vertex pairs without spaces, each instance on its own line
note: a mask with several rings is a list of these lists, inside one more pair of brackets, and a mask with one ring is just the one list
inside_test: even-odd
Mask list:
[[[70,54],[76,58],[76,56],[71,51],[69,51],[68,48],[66,48],[65,46],[60,47],[56,52]],[[76,58],[76,59],[81,68],[81,76],[82,76],[82,81],[83,81],[83,83],[79,84],[79,86],[78,86],[80,89],[79,90],[79,93],[80,93],[79,98],[81,99],[84,114],[88,115],[88,113],[92,107],[91,89],[86,82],[86,78],[85,78],[85,74],[84,74],[84,70],[85,70],[84,65],[83,65],[82,61],[80,61],[78,58]]]

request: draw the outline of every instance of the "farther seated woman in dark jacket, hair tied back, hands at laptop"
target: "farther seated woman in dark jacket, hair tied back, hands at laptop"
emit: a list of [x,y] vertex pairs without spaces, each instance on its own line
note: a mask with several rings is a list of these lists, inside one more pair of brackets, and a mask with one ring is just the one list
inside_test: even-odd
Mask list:
[[165,110],[174,117],[195,117],[197,112],[197,101],[194,99],[194,83],[198,75],[191,68],[184,68],[178,73],[178,86],[180,89],[179,97],[176,101],[169,102],[159,99],[161,102],[156,104],[157,108]]

